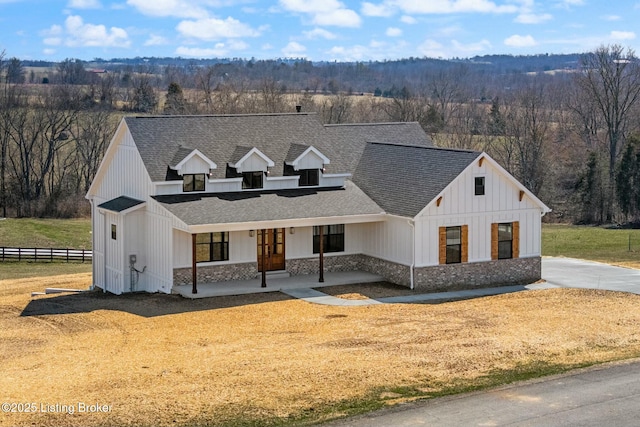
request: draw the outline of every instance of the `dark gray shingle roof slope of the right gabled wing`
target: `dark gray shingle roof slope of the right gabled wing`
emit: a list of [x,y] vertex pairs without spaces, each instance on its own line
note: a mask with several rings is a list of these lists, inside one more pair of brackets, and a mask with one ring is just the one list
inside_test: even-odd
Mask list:
[[387,213],[413,218],[480,154],[369,143],[353,182]]

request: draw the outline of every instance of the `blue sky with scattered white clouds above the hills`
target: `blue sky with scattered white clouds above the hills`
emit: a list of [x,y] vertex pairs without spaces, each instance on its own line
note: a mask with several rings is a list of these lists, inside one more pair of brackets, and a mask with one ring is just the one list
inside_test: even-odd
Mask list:
[[0,0],[0,51],[368,61],[485,54],[640,54],[640,0]]

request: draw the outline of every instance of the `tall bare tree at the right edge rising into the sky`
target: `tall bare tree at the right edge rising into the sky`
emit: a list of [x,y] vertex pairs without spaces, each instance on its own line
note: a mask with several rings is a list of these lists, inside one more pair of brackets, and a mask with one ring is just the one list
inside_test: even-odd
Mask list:
[[[640,64],[633,50],[619,45],[601,46],[582,57],[582,70],[576,75],[581,92],[581,104],[575,106],[585,123],[597,123],[597,112],[604,125],[609,154],[606,219],[613,219],[615,200],[616,160],[624,148],[625,137],[632,120],[633,108],[640,98]],[[585,102],[592,100],[592,102]],[[596,130],[597,131],[597,130]]]

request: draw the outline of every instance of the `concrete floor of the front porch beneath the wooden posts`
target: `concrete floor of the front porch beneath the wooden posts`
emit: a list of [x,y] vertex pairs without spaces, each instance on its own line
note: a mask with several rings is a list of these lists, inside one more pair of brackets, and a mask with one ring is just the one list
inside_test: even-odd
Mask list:
[[262,287],[260,278],[251,280],[231,280],[216,283],[198,283],[198,293],[192,293],[191,285],[174,285],[172,293],[185,298],[209,298],[229,295],[254,294],[262,292],[278,292],[289,289],[319,288],[336,285],[353,285],[357,283],[381,282],[385,279],[377,274],[364,271],[326,272],[324,282],[318,281],[317,274],[291,277],[269,277],[267,286]]

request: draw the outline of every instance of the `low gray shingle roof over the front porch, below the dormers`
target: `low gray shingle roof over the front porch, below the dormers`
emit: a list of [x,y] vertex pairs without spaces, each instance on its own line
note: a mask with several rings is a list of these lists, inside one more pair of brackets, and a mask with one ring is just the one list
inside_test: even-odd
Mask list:
[[380,214],[352,182],[345,188],[299,188],[154,197],[187,225]]

